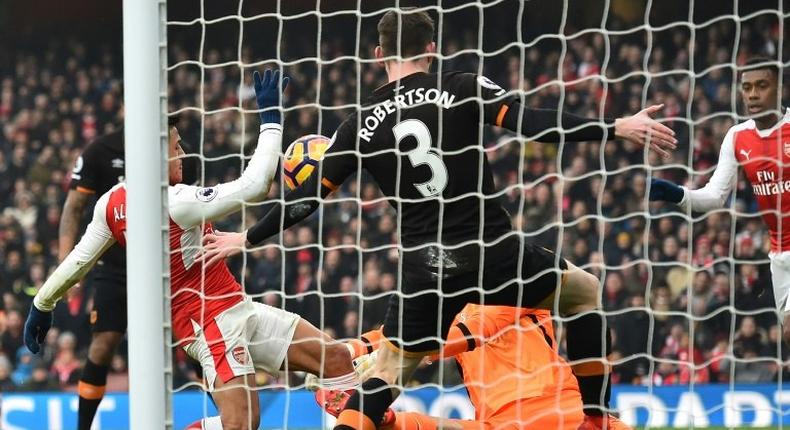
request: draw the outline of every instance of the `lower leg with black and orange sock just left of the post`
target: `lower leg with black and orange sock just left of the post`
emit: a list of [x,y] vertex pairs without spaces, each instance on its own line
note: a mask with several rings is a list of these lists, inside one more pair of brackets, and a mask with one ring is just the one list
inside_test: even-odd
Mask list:
[[88,360],[85,362],[78,385],[77,428],[79,430],[88,430],[93,423],[99,403],[104,398],[107,371],[121,339],[123,339],[123,333],[117,331],[93,333],[88,349]]

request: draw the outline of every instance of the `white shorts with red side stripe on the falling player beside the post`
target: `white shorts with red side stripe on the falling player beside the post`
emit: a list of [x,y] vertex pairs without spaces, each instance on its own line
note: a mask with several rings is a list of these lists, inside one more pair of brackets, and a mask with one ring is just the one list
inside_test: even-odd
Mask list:
[[260,369],[277,375],[299,323],[299,315],[249,299],[206,322],[192,321],[195,341],[184,347],[200,362],[209,391],[222,382]]

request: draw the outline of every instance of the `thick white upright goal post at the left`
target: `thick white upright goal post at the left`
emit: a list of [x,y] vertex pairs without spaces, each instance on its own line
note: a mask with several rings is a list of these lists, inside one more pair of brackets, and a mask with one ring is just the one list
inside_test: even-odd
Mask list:
[[[172,428],[165,0],[123,2],[129,427]],[[158,162],[157,162],[158,161]]]

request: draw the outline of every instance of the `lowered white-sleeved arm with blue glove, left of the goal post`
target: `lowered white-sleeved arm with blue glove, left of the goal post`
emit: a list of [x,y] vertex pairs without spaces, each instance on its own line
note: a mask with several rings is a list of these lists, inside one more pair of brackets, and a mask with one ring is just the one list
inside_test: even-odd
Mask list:
[[52,326],[52,310],[58,300],[66,294],[96,264],[102,254],[115,243],[105,220],[107,201],[110,193],[104,194],[93,211],[93,219],[79,243],[47,278],[44,285],[33,298],[30,313],[25,321],[24,340],[27,348],[35,353]]

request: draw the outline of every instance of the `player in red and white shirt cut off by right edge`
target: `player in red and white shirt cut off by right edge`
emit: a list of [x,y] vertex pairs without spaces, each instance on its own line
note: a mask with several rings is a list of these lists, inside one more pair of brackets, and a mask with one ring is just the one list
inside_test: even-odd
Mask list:
[[754,58],[741,72],[741,98],[751,117],[724,136],[719,163],[710,181],[691,190],[653,178],[650,200],[678,203],[695,212],[725,207],[743,168],[771,237],[771,278],[783,337],[790,344],[790,109],[777,111],[779,68]]

